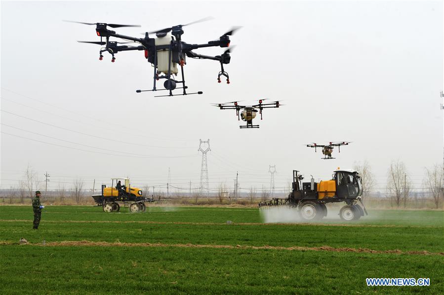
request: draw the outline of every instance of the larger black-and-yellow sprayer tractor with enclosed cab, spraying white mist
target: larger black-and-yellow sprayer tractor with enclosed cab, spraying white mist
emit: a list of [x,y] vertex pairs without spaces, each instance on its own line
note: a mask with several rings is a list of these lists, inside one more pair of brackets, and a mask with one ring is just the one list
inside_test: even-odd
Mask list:
[[[342,169],[334,171],[333,178],[315,183],[302,183],[302,175],[293,170],[293,190],[287,198],[273,198],[259,203],[259,207],[286,205],[296,207],[299,216],[305,221],[319,221],[327,216],[326,203],[345,202],[339,211],[339,217],[344,221],[359,220],[368,215],[362,202],[362,183],[358,171]],[[362,207],[358,205],[361,202]]]

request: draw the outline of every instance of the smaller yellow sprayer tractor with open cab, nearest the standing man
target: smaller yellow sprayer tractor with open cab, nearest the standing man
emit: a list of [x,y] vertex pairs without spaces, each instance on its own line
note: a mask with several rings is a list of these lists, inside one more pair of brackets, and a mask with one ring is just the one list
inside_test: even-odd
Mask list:
[[[131,187],[128,178],[112,178],[111,187],[102,184],[102,193],[92,195],[97,206],[101,206],[105,212],[119,212],[122,202],[125,208],[129,208],[132,213],[145,212],[145,202],[154,202],[154,198],[145,198],[142,190],[137,187]],[[116,186],[114,186],[116,181]],[[121,184],[124,181],[124,184]]]

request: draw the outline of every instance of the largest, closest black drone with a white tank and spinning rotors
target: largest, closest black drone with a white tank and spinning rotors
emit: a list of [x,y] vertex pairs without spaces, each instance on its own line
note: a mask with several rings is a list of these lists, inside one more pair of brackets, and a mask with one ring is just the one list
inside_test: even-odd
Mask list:
[[[106,24],[106,23],[83,23],[83,22],[74,22],[80,23],[84,25],[95,25],[96,26],[96,34],[100,37],[100,41],[78,41],[82,43],[92,43],[98,45],[105,45],[99,51],[99,60],[103,59],[102,53],[108,52],[111,54],[111,62],[116,61],[115,55],[119,51],[129,51],[129,50],[143,50],[145,52],[145,58],[151,63],[154,67],[154,86],[151,90],[136,90],[137,93],[143,91],[158,91],[158,90],[167,90],[169,91],[168,95],[159,95],[155,97],[163,97],[163,96],[176,96],[176,95],[187,95],[187,94],[202,94],[202,91],[187,93],[186,89],[188,86],[185,85],[185,77],[184,77],[184,69],[183,67],[187,64],[186,57],[196,58],[196,59],[210,59],[215,60],[220,63],[221,70],[217,75],[217,81],[221,82],[221,76],[227,78],[227,84],[230,84],[230,77],[227,72],[224,70],[224,64],[230,63],[230,49],[227,49],[221,55],[216,56],[207,56],[193,52],[194,49],[202,48],[202,47],[228,47],[230,46],[230,36],[234,34],[236,30],[240,27],[234,27],[231,31],[223,34],[217,40],[208,41],[206,44],[189,44],[182,41],[182,35],[184,31],[182,27],[189,26],[191,24],[199,23],[202,21],[206,21],[208,18],[204,18],[195,22],[191,22],[186,25],[177,25],[171,28],[166,28],[158,31],[147,32],[145,33],[144,38],[130,37],[117,34],[115,31],[108,30],[107,27],[111,28],[121,28],[121,27],[140,27],[139,25],[119,25],[119,24]],[[156,37],[150,37],[150,34],[156,34]],[[130,40],[131,42],[117,42],[110,41],[110,37],[121,38],[125,40]],[[105,38],[106,41],[103,41]],[[140,43],[138,46],[128,46],[128,45],[119,45],[124,43]],[[179,70],[178,66],[180,66],[180,71],[182,74],[182,79],[177,80],[174,76],[177,76]],[[173,76],[174,75],[174,76]],[[156,81],[160,79],[165,79],[163,82],[163,89],[158,89],[156,86]],[[178,84],[181,84],[180,87]],[[182,89],[182,94],[173,94],[172,91],[174,89]]]

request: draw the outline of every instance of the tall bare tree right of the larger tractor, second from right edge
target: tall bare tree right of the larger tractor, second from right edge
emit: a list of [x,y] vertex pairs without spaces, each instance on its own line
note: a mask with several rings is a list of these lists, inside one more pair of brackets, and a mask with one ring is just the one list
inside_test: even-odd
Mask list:
[[401,201],[404,201],[404,207],[407,205],[407,199],[410,193],[410,182],[404,162],[399,159],[392,161],[390,164],[387,176],[387,193],[390,196],[392,206],[393,203],[395,203],[396,206],[399,207]]

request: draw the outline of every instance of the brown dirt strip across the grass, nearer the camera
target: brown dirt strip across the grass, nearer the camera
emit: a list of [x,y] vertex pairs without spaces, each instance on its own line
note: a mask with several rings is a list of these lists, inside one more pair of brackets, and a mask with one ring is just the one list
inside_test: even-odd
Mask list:
[[[17,245],[17,243],[0,242],[0,245]],[[371,250],[366,248],[333,248],[330,246],[321,247],[280,247],[280,246],[233,246],[233,245],[196,245],[196,244],[161,244],[161,243],[109,243],[109,242],[93,242],[93,241],[61,241],[61,242],[48,242],[45,245],[42,244],[21,244],[30,246],[100,246],[100,247],[177,247],[177,248],[213,248],[213,249],[272,249],[272,250],[296,250],[296,251],[331,251],[331,252],[354,252],[354,253],[371,253],[371,254],[408,254],[408,255],[441,255],[444,253],[433,253],[428,251],[401,251],[401,250]]]

